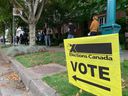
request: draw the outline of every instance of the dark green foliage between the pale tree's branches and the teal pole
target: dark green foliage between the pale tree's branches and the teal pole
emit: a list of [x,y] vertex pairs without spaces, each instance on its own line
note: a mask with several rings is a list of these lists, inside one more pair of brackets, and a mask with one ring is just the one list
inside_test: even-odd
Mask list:
[[102,12],[105,5],[103,0],[51,0],[43,12],[43,19],[54,24],[68,20],[81,22],[94,13]]

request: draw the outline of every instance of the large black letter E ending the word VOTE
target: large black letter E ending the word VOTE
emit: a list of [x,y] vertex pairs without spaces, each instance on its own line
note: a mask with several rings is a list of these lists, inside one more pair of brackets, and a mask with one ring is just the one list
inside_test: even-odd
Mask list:
[[100,75],[99,77],[100,77],[100,79],[110,81],[110,78],[104,76],[104,75],[109,76],[109,72],[107,72],[107,71],[109,71],[108,67],[99,66],[99,75]]

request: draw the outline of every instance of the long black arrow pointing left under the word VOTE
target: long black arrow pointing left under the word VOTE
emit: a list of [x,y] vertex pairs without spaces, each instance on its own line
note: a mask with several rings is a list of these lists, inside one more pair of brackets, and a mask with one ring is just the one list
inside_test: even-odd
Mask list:
[[104,89],[104,90],[107,90],[107,91],[111,91],[110,88],[108,87],[105,87],[105,86],[102,86],[102,85],[99,85],[99,84],[96,84],[96,83],[93,83],[93,82],[90,82],[90,81],[87,81],[87,80],[83,80],[81,78],[78,78],[76,75],[72,76],[72,78],[75,80],[75,81],[81,81],[81,82],[84,82],[84,83],[87,83],[87,84],[90,84],[90,85],[93,85],[95,87],[98,87],[98,88],[101,88],[101,89]]

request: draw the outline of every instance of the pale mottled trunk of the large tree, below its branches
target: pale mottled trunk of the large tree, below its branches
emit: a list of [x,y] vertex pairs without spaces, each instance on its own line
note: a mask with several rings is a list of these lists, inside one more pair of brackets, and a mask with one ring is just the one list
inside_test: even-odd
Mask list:
[[29,46],[34,46],[36,44],[36,24],[29,24]]

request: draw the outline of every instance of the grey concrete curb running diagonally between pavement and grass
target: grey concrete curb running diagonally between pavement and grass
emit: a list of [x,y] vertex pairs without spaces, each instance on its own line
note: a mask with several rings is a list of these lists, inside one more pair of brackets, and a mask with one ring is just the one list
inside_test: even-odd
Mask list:
[[51,88],[48,84],[35,77],[33,73],[30,73],[12,57],[7,58],[11,61],[13,69],[18,73],[23,83],[32,92],[33,96],[59,96],[59,94]]

